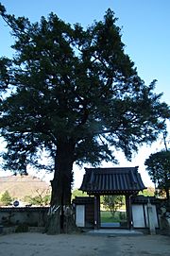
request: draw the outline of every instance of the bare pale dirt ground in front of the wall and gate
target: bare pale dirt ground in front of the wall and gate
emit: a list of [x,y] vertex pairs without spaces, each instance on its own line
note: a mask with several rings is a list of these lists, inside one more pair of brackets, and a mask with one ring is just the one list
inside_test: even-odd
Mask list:
[[0,256],[170,256],[170,237],[11,233],[0,235]]

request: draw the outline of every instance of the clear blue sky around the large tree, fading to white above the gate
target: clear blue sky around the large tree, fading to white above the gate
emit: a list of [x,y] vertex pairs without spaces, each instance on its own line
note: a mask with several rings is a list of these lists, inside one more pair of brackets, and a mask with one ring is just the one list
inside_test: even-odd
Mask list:
[[[122,41],[125,51],[135,62],[138,74],[146,84],[157,79],[156,93],[170,105],[170,1],[169,0],[0,0],[9,14],[26,16],[31,22],[40,21],[53,11],[60,19],[71,25],[79,23],[83,27],[91,26],[93,21],[103,20],[107,9],[112,9],[118,18],[117,25],[122,27]],[[9,28],[0,19],[0,57],[11,57],[10,45],[13,39]],[[170,133],[170,128],[168,128]],[[168,136],[169,137],[169,136]],[[144,160],[162,144],[142,146],[132,162],[127,162],[121,152],[118,153],[121,166],[139,165],[145,185],[150,180],[144,171]],[[106,165],[105,165],[106,166]],[[110,166],[110,165],[109,165]],[[82,174],[76,171],[75,186],[81,183]]]

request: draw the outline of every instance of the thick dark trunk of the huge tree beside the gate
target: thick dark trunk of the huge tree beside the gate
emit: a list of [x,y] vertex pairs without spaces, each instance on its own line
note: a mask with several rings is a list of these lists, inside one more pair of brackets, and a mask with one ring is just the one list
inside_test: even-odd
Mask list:
[[60,140],[55,159],[54,179],[51,180],[52,195],[48,213],[47,233],[70,232],[74,228],[71,207],[73,163],[75,145]]

